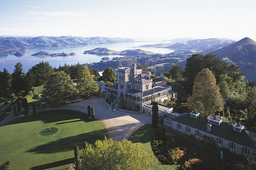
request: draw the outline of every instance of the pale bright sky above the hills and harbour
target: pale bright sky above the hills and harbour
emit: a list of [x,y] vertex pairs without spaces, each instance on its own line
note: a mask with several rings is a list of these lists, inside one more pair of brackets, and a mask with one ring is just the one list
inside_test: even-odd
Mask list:
[[256,40],[255,7],[254,0],[0,0],[0,35]]

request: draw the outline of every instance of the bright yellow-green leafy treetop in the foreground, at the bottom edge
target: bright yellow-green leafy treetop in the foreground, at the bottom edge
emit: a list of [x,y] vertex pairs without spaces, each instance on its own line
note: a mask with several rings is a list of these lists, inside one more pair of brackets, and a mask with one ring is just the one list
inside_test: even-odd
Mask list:
[[97,140],[95,147],[85,143],[81,159],[84,170],[148,170],[153,165],[152,152],[146,153],[141,143]]

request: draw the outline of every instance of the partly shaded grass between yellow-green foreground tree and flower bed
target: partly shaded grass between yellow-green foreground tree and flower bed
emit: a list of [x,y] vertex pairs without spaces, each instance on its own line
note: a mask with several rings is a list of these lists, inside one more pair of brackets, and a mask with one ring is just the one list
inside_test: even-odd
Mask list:
[[[151,152],[151,137],[153,134],[154,129],[151,125],[146,124],[140,127],[132,136],[128,138],[128,140],[132,141],[133,143],[140,142],[144,145],[146,152]],[[158,159],[153,156],[154,164],[152,166],[152,170],[175,170],[178,169],[180,165],[163,165],[161,164]]]

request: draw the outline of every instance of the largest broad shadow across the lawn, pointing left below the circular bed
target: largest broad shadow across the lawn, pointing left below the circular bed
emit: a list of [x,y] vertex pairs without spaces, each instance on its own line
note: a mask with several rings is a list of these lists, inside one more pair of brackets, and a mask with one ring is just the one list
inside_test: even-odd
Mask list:
[[43,145],[39,145],[30,149],[26,152],[36,153],[36,154],[50,154],[58,152],[66,152],[74,150],[74,146],[78,145],[81,149],[83,147],[83,142],[88,142],[94,144],[96,140],[103,140],[104,135],[106,135],[106,129],[96,130],[76,136],[70,136],[62,138],[56,141],[48,142]]

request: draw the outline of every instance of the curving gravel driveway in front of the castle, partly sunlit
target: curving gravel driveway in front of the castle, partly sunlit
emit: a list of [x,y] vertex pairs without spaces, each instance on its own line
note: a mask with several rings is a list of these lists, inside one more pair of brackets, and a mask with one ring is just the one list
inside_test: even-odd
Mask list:
[[121,111],[114,111],[105,104],[105,98],[92,97],[91,99],[84,100],[68,104],[66,106],[56,108],[37,109],[37,112],[43,112],[48,110],[74,110],[83,113],[87,113],[87,106],[95,109],[95,118],[100,120],[107,130],[107,138],[112,138],[116,141],[121,141],[123,138],[128,138],[133,134],[140,126],[144,124],[151,124],[152,117],[146,113],[132,114]]

